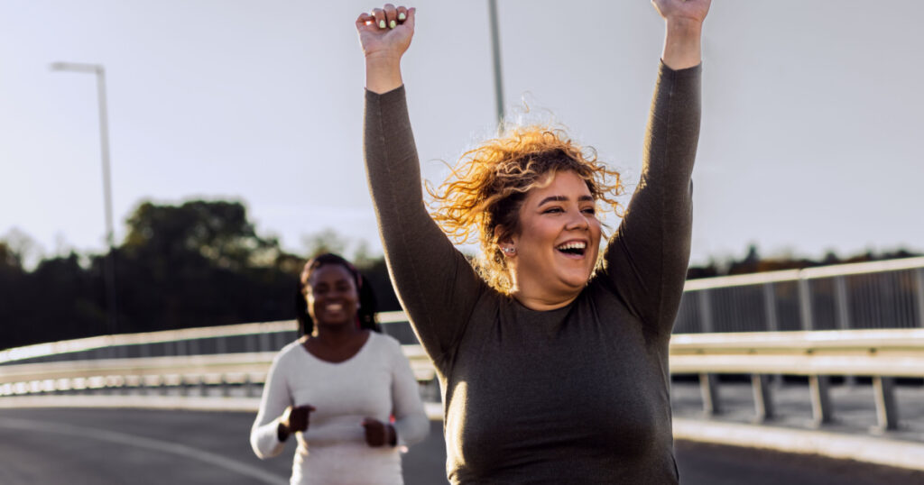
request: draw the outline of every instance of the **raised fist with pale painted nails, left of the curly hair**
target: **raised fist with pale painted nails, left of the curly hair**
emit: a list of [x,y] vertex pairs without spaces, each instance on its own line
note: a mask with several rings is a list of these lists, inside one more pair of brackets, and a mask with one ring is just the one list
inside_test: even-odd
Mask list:
[[359,45],[366,58],[381,57],[399,61],[414,37],[414,17],[417,9],[385,4],[356,19]]

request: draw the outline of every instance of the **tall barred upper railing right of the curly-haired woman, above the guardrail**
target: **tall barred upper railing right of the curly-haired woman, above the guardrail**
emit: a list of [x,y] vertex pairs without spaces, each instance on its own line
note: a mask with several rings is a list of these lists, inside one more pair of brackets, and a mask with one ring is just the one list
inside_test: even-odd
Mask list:
[[924,257],[689,280],[675,333],[924,328]]

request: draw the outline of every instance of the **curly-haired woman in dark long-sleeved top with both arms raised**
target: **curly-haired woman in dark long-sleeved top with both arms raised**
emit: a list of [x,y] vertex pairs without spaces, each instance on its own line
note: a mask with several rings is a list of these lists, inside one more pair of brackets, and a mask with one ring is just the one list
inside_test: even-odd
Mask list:
[[[666,35],[641,179],[602,258],[618,175],[557,130],[465,154],[423,202],[400,60],[415,9],[356,22],[364,149],[398,296],[437,369],[454,483],[676,483],[668,341],[689,259],[700,32],[710,0],[654,0]],[[475,267],[453,246],[477,236]]]

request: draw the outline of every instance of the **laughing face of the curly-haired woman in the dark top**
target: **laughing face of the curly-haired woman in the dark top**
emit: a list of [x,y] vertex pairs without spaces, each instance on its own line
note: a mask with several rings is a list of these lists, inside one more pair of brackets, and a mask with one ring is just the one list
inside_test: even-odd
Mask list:
[[560,307],[587,285],[600,251],[595,212],[587,182],[571,171],[529,191],[519,211],[519,234],[501,242],[516,249],[509,260],[513,294],[527,307]]

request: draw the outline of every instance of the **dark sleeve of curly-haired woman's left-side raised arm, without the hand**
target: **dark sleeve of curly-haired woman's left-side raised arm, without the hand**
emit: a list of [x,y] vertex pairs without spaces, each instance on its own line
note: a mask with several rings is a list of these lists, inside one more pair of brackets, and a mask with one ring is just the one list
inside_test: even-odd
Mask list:
[[392,283],[440,368],[486,285],[426,210],[403,86],[366,91],[363,148]]

